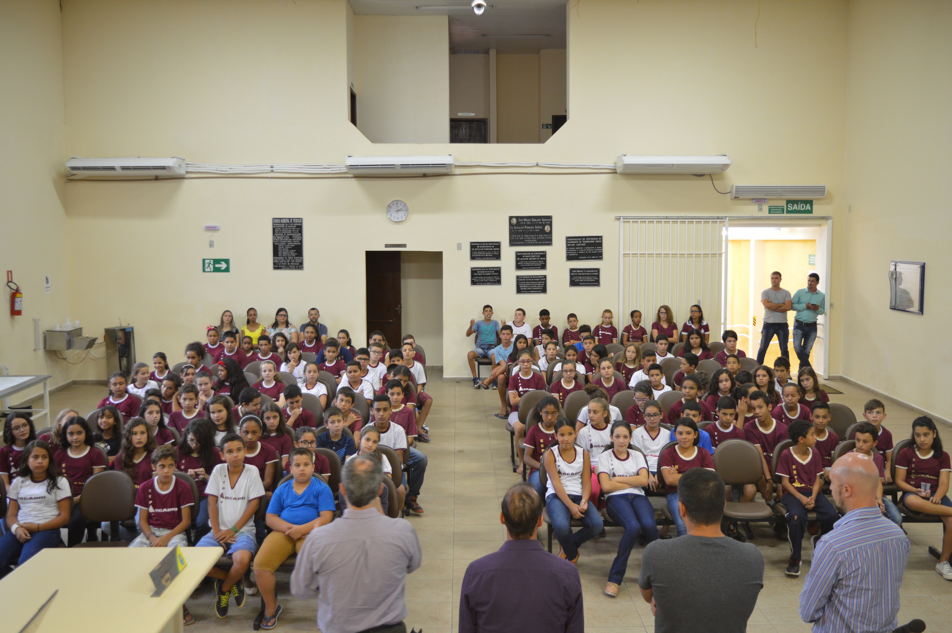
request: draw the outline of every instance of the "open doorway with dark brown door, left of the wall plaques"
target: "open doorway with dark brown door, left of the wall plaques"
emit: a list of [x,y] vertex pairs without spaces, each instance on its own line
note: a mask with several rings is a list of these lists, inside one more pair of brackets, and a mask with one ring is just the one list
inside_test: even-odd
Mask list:
[[427,367],[443,366],[443,252],[367,250],[367,332],[389,346],[412,334]]

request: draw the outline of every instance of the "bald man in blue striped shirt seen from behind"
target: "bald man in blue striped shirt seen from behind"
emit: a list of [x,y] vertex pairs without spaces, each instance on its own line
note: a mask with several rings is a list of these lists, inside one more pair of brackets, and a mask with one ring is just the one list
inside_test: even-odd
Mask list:
[[888,633],[898,626],[909,540],[876,503],[879,477],[860,453],[846,453],[830,468],[833,504],[843,518],[817,544],[800,594],[800,617],[814,633]]

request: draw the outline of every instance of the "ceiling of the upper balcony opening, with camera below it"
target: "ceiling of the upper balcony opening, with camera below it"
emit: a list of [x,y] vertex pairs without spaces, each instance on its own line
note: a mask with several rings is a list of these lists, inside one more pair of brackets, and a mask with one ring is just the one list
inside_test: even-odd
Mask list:
[[[453,52],[501,53],[565,49],[565,0],[486,0],[482,15],[470,0],[350,0],[358,15],[448,15]],[[425,6],[459,6],[459,10],[418,10]],[[548,37],[522,37],[526,34]]]

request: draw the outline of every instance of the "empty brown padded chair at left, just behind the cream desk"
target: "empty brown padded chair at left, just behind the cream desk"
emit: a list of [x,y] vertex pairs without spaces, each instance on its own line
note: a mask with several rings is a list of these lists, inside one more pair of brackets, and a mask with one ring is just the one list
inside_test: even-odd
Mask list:
[[129,546],[119,535],[119,524],[135,517],[135,483],[124,471],[104,470],[86,480],[79,509],[87,521],[108,523],[110,540],[81,543],[74,547]]

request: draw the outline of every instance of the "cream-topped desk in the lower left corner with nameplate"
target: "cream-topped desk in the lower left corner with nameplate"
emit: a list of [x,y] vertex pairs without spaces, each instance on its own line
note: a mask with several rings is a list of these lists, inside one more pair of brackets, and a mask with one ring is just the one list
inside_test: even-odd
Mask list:
[[222,552],[221,547],[183,547],[185,569],[152,598],[149,571],[169,553],[167,547],[44,549],[0,581],[0,631],[19,631],[59,589],[36,630],[181,633],[182,604]]

